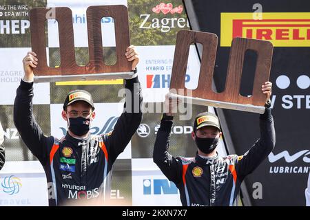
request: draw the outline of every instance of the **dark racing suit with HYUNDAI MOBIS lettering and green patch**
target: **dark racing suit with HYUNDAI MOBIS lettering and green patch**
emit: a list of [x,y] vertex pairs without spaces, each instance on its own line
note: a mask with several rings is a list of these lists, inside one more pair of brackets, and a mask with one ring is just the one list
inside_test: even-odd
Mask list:
[[110,199],[112,165],[130,142],[143,115],[138,77],[125,81],[124,111],[110,135],[76,139],[67,133],[60,140],[41,131],[32,114],[33,83],[21,81],[14,101],[14,124],[45,170],[50,206],[75,205],[74,201],[79,205],[83,204],[78,203],[81,201],[104,204]]

